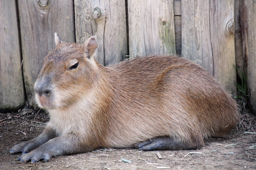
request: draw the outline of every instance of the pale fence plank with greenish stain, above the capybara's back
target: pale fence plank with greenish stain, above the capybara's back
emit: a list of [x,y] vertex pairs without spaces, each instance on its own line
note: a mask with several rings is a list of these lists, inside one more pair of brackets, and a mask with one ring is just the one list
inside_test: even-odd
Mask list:
[[129,0],[130,58],[176,54],[173,0]]

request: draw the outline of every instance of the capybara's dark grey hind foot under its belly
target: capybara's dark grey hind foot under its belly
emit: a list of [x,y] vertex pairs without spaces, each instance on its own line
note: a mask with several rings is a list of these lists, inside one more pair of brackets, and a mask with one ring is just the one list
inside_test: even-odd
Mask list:
[[180,149],[197,149],[172,137],[156,137],[148,141],[136,143],[136,149],[140,150],[180,150]]

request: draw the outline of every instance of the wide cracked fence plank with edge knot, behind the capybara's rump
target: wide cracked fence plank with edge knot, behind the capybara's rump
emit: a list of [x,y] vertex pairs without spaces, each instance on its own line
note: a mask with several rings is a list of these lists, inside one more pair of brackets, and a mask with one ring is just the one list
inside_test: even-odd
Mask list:
[[[202,65],[236,95],[234,0],[182,1],[182,56]],[[232,28],[232,27],[231,27]]]

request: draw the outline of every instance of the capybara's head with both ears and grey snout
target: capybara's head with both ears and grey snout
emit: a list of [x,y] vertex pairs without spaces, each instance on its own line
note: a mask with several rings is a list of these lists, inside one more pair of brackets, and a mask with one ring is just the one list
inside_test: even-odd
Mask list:
[[54,35],[56,47],[44,58],[34,85],[36,102],[44,109],[74,104],[90,91],[98,69],[93,58],[98,47],[95,37],[76,44],[63,42],[57,33]]

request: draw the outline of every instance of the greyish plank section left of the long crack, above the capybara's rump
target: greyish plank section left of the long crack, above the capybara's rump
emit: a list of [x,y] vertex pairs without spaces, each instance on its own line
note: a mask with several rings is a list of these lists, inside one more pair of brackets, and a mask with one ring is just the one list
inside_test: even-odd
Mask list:
[[182,57],[214,74],[210,0],[182,0]]

